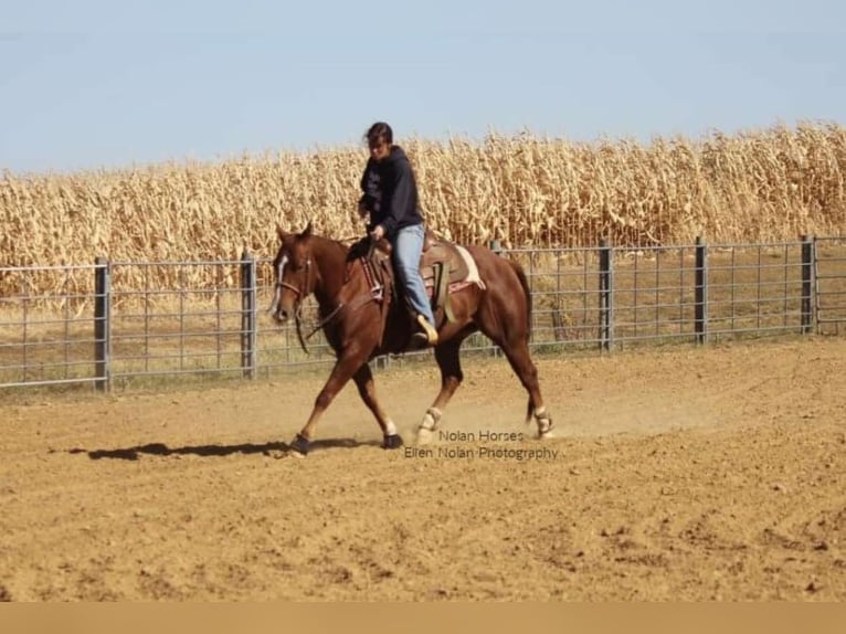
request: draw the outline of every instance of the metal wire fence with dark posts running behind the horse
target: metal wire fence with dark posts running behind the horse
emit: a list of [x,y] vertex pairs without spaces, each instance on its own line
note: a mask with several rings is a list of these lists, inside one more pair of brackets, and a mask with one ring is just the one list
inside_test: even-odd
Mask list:
[[[839,334],[846,325],[844,237],[499,252],[526,270],[537,353]],[[331,363],[320,332],[307,356],[290,326],[265,315],[273,284],[271,261],[252,256],[0,267],[0,387],[108,389],[157,377],[255,378]],[[313,300],[306,320],[317,321]],[[483,335],[463,350],[497,353]]]

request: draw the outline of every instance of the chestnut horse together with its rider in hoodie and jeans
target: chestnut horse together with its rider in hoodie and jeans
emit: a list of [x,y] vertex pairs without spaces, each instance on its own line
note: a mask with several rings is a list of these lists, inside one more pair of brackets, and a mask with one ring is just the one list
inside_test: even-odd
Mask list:
[[[319,328],[336,353],[335,366],[315,399],[311,414],[286,455],[308,454],[318,421],[349,380],[355,381],[361,400],[379,423],[382,446],[401,447],[402,436],[377,397],[369,361],[380,355],[406,351],[413,338],[422,346],[434,347],[433,356],[441,370],[441,390],[416,434],[417,444],[433,442],[444,408],[464,380],[459,358],[462,342],[476,331],[499,346],[519,378],[528,395],[526,422],[535,419],[538,438],[551,437],[552,418],[543,402],[538,369],[529,351],[532,302],[522,267],[486,246],[473,244],[462,246],[466,258],[464,253],[458,254],[465,266],[453,267],[450,258],[438,261],[438,250],[430,245],[426,253],[431,262],[437,262],[441,272],[438,283],[433,277],[433,297],[442,298],[444,290],[448,294],[448,303],[434,310],[438,316],[442,311],[444,315],[438,332],[420,271],[426,236],[414,172],[405,152],[393,144],[393,131],[388,124],[373,124],[366,137],[370,159],[361,178],[363,196],[359,211],[362,218],[369,214],[369,236],[350,247],[315,235],[310,222],[300,233],[287,233],[281,225],[276,226],[279,249],[273,261],[276,285],[271,315],[278,324],[294,317],[299,328],[303,302],[314,295],[319,308]],[[406,303],[416,313],[416,321],[391,318],[392,307],[396,306],[390,292],[392,284],[389,283],[387,293],[373,284],[371,256],[378,256],[378,270],[384,263],[379,258],[387,250],[380,245],[377,252],[371,246],[384,239],[391,244],[393,268],[405,290]],[[357,247],[363,247],[368,256]],[[472,262],[472,267],[467,262]],[[430,266],[427,273],[433,268]],[[457,274],[456,279],[451,278],[451,272]],[[454,288],[451,282],[455,282]],[[417,327],[422,331],[416,331]]]

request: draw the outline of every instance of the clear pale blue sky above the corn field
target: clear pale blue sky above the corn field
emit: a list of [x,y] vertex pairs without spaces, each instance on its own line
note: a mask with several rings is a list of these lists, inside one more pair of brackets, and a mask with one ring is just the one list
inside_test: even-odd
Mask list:
[[846,3],[3,0],[0,172],[845,123]]

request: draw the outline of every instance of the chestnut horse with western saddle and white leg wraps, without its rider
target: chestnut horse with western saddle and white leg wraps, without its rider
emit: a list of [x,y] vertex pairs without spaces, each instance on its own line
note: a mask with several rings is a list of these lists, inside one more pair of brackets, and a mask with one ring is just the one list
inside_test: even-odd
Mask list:
[[[303,300],[314,294],[318,304],[317,329],[322,328],[336,353],[331,373],[315,400],[308,421],[289,444],[289,453],[306,456],[320,416],[350,379],[379,423],[382,447],[401,447],[402,437],[377,398],[369,364],[376,357],[408,351],[416,327],[394,287],[388,264],[390,253],[374,249],[376,245],[363,253],[340,241],[316,235],[310,221],[300,233],[287,233],[278,224],[276,233],[279,247],[273,261],[275,290],[269,313],[279,325],[295,318],[305,348],[299,316]],[[432,234],[426,232],[424,256],[432,251],[429,250],[432,241]],[[452,243],[446,244],[455,250]],[[463,249],[465,260],[466,254],[472,257],[469,266],[476,270],[476,281],[441,284],[450,289],[446,306],[435,310],[438,341],[434,357],[441,370],[441,390],[417,427],[416,443],[429,444],[440,429],[443,411],[464,380],[459,348],[478,330],[499,346],[528,392],[526,423],[533,416],[537,437],[548,438],[552,419],[544,406],[538,370],[529,355],[531,294],[526,274],[519,263],[485,246]]]

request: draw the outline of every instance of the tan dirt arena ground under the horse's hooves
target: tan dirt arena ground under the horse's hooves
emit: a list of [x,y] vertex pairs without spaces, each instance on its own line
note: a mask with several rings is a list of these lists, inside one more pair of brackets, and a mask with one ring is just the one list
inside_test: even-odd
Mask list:
[[[846,599],[846,339],[539,370],[557,438],[529,437],[505,361],[472,360],[444,416],[466,438],[416,457],[352,387],[308,458],[274,457],[324,371],[0,393],[0,599]],[[378,381],[411,440],[435,368]]]

